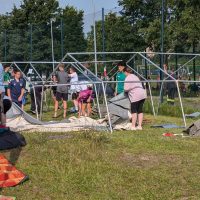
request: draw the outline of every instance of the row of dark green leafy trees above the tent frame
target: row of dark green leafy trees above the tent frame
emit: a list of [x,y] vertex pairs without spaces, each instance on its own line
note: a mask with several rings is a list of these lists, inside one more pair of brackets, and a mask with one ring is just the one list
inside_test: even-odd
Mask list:
[[[105,51],[160,51],[161,0],[119,0],[119,14],[105,17]],[[164,52],[198,52],[200,1],[165,0]],[[85,35],[84,12],[61,9],[57,0],[23,0],[19,8],[0,15],[1,60],[51,60],[53,22],[55,60],[66,52],[93,51],[93,27]],[[97,50],[102,51],[102,22],[96,22]],[[6,44],[6,45],[5,45]],[[6,56],[6,58],[5,58]]]

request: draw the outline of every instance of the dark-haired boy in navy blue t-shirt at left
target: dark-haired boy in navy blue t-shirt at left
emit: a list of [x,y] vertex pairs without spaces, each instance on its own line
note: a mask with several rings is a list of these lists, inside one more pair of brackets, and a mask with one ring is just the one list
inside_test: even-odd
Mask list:
[[13,72],[14,79],[11,80],[8,85],[8,97],[21,108],[25,85],[24,81],[21,79],[21,72],[18,69],[14,69]]

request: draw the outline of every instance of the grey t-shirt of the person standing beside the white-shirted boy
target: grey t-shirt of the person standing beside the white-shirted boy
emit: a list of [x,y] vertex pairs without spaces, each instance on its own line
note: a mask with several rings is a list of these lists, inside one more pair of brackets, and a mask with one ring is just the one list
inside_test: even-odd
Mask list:
[[[68,74],[64,71],[59,71],[56,74],[57,76],[57,80],[58,80],[58,84],[67,84],[68,83]],[[58,85],[57,86],[57,92],[60,93],[68,93],[68,86],[67,85]]]

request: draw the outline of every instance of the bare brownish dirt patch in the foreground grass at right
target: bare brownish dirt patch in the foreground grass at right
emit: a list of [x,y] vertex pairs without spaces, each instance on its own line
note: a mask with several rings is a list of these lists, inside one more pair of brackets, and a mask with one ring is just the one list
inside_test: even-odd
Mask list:
[[124,153],[119,157],[119,162],[122,165],[138,168],[152,168],[160,164],[171,165],[173,163],[181,164],[181,159],[175,155],[151,155],[140,154],[134,155],[131,153]]

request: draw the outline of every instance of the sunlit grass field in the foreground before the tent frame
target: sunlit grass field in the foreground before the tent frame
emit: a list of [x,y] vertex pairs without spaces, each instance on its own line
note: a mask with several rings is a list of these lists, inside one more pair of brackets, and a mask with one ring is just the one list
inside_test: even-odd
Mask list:
[[200,199],[200,139],[150,128],[179,118],[145,118],[139,132],[24,133],[16,166],[30,180],[1,193],[17,200]]

